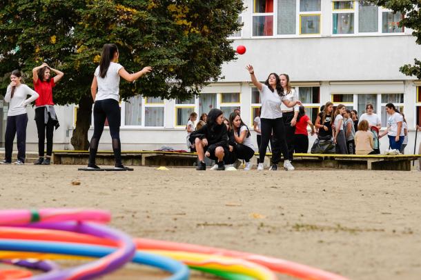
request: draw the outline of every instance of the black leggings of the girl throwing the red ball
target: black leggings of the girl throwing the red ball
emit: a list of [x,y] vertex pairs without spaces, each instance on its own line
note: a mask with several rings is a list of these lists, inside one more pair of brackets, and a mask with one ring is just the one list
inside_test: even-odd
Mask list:
[[[284,159],[288,159],[288,148],[285,141],[284,121],[282,118],[277,119],[260,119],[262,124],[262,144],[259,148],[259,163],[264,162],[266,156],[266,149],[268,148],[269,139],[273,131],[273,146],[272,146],[272,162],[277,164],[281,160],[281,152]],[[275,141],[276,139],[276,141]]]

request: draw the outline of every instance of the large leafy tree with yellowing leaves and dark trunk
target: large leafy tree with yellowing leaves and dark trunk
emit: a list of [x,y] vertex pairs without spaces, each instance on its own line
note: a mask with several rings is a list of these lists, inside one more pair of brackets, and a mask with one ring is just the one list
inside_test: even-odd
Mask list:
[[[0,6],[0,73],[28,73],[43,61],[62,70],[54,91],[59,105],[78,103],[71,140],[88,149],[92,108],[90,83],[104,43],[116,43],[128,70],[153,66],[134,83],[120,83],[128,99],[189,99],[221,78],[221,66],[235,59],[229,34],[241,28],[241,0],[14,0]],[[3,76],[3,74],[1,76]],[[30,79],[27,79],[30,81]],[[3,79],[0,90],[9,83]]]

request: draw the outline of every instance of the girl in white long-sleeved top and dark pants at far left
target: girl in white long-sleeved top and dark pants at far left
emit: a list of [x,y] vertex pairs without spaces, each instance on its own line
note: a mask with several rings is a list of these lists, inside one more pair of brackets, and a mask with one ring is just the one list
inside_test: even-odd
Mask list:
[[[12,163],[12,149],[14,135],[17,135],[17,161],[15,164],[25,163],[26,153],[26,125],[28,114],[26,106],[39,97],[37,92],[22,83],[22,74],[19,70],[13,70],[10,74],[10,85],[8,86],[4,101],[10,103],[8,121],[5,134],[4,160],[1,163]],[[30,95],[28,99],[26,97]]]

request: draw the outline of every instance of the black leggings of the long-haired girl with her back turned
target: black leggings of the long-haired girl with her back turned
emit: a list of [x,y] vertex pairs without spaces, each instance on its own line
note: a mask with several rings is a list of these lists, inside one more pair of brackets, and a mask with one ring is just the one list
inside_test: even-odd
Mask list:
[[97,156],[99,139],[104,131],[106,119],[110,127],[112,139],[112,150],[114,151],[115,166],[121,165],[121,143],[120,143],[120,124],[121,114],[119,102],[115,99],[104,99],[95,101],[94,105],[94,134],[90,139],[89,163],[95,164]]

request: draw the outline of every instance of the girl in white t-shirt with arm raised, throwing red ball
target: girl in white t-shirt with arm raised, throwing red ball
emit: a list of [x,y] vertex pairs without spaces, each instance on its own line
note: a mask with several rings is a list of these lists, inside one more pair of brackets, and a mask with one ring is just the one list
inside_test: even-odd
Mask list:
[[284,88],[281,86],[280,77],[276,73],[269,74],[264,83],[257,81],[253,66],[248,65],[246,69],[250,73],[253,85],[260,92],[260,100],[262,100],[262,112],[260,112],[260,122],[262,124],[262,144],[259,148],[259,164],[257,170],[264,170],[264,157],[266,157],[266,149],[268,148],[269,139],[273,132],[273,138],[277,139],[276,149],[273,147],[273,165],[271,170],[277,170],[277,163],[280,161],[281,154],[284,155],[284,168],[286,170],[294,170],[295,168],[288,159],[288,147],[286,146],[284,121],[282,119],[281,103],[287,107],[293,107],[301,102],[288,101],[285,98]]

